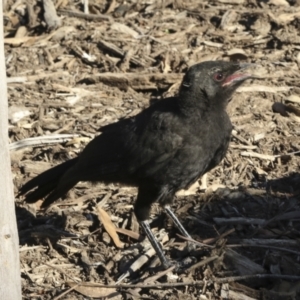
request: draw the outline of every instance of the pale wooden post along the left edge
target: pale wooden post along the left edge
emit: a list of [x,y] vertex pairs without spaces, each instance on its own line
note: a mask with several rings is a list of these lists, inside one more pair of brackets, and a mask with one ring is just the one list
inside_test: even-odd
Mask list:
[[8,105],[0,1],[0,299],[21,300],[19,238],[8,148]]

